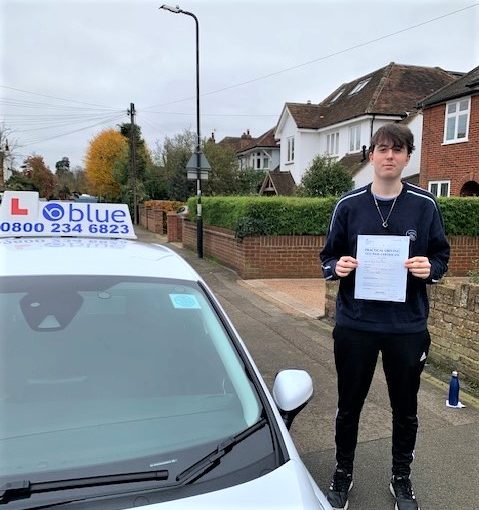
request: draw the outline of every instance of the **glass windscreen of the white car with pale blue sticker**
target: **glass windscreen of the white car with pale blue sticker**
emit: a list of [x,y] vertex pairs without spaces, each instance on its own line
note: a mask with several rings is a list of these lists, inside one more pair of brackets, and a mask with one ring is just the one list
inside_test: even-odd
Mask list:
[[0,279],[0,478],[181,470],[262,412],[197,283]]

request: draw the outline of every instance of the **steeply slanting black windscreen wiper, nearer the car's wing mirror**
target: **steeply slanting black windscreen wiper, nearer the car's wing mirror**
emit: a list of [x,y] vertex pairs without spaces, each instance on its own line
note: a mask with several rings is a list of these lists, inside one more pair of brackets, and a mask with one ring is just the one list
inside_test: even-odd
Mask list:
[[235,445],[241,443],[241,441],[244,441],[247,437],[262,429],[267,423],[268,420],[266,418],[261,418],[261,420],[256,422],[254,425],[251,425],[251,427],[248,427],[246,430],[243,430],[243,432],[221,441],[221,443],[219,443],[213,451],[192,464],[189,468],[182,471],[176,477],[178,485],[186,485],[198,480],[198,478],[202,477],[208,471],[217,466],[220,459],[230,452]]

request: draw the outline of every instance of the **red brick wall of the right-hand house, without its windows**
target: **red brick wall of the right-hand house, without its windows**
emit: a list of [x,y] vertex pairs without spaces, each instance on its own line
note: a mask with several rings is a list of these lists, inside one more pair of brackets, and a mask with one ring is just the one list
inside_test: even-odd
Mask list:
[[423,112],[421,172],[419,185],[429,181],[451,181],[451,196],[459,196],[468,181],[479,182],[479,96],[471,98],[467,142],[442,145],[446,105]]

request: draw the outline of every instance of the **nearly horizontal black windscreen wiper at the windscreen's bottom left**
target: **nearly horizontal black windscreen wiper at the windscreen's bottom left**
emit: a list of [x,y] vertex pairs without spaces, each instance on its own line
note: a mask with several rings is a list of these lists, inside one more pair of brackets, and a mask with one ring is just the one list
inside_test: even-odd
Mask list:
[[84,487],[100,487],[122,483],[148,482],[150,480],[167,480],[168,471],[143,471],[136,473],[121,473],[103,476],[90,476],[85,478],[72,478],[68,480],[52,480],[49,482],[31,482],[30,480],[17,480],[7,482],[0,486],[0,505],[15,499],[27,499],[32,494],[40,492],[81,489]]

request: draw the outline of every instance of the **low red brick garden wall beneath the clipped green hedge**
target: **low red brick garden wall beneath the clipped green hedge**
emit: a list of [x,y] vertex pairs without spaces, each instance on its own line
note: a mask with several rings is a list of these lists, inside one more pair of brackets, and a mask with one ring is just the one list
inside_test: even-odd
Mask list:
[[[241,278],[320,278],[324,236],[251,236],[242,242],[230,230],[203,229],[203,252]],[[451,236],[448,276],[465,276],[479,259],[479,237]],[[183,245],[196,250],[196,225],[183,222]]]

